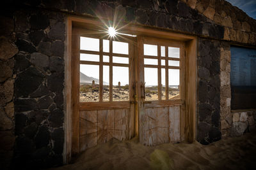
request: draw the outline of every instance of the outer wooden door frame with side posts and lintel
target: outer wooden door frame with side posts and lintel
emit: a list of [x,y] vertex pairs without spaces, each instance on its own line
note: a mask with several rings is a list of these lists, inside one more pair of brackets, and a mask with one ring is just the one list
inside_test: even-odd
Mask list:
[[[92,18],[81,18],[81,17],[67,17],[66,18],[66,30],[67,30],[67,41],[65,44],[65,117],[64,117],[64,128],[65,128],[65,141],[64,141],[64,150],[63,150],[63,162],[68,163],[76,153],[79,151],[76,150],[73,146],[76,143],[72,139],[76,138],[77,134],[74,132],[77,131],[77,121],[79,121],[79,107],[74,106],[72,99],[72,30],[75,27],[92,27],[97,28],[98,25],[103,25],[101,20],[95,20]],[[188,34],[181,34],[177,32],[153,29],[150,27],[143,27],[139,25],[127,24],[125,30],[128,34],[136,34],[138,36],[150,36],[156,38],[168,39],[166,41],[182,41],[184,42],[184,49],[186,52],[186,114],[185,114],[185,132],[184,135],[189,142],[195,140],[196,134],[196,99],[197,99],[197,73],[196,73],[196,56],[197,56],[197,38],[196,36],[191,36]],[[137,45],[137,48],[141,48],[140,45]],[[138,55],[138,51],[134,51]],[[138,64],[138,60],[134,59],[135,65]],[[136,66],[135,66],[136,68]],[[140,70],[136,70],[138,73]],[[137,74],[135,76],[138,76]],[[131,85],[130,85],[131,86]],[[141,94],[138,94],[138,86],[136,87],[137,97]],[[162,101],[161,104],[164,105],[165,101]],[[102,103],[103,104],[103,103]],[[108,106],[103,106],[108,107]],[[138,134],[138,115],[136,115],[136,134]],[[78,127],[79,128],[79,127]],[[182,127],[183,128],[183,127]]]

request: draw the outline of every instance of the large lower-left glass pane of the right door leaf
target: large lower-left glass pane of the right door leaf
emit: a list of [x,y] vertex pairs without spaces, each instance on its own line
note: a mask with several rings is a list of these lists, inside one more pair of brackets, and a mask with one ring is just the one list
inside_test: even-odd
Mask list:
[[144,68],[145,100],[158,100],[157,68]]

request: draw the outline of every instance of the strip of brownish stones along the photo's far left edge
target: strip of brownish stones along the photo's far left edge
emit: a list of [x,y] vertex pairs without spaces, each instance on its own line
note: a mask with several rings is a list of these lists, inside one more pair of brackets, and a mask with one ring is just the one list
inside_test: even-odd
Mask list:
[[13,43],[13,18],[1,16],[0,23],[0,167],[7,169],[12,162],[15,143],[13,67],[18,49]]

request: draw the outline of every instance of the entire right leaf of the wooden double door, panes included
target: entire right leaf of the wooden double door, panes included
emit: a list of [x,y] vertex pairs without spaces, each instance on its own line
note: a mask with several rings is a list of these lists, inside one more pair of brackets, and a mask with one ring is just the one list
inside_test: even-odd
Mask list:
[[[148,46],[148,47],[147,47]],[[145,52],[147,49],[148,52]],[[179,49],[179,55],[170,55],[169,48]],[[154,49],[154,50],[152,50]],[[138,37],[138,81],[141,82],[138,87],[138,115],[140,125],[140,142],[143,145],[154,146],[162,143],[179,142],[180,141],[180,122],[185,121],[180,119],[180,114],[184,113],[184,108],[180,109],[186,98],[186,67],[184,43],[180,41],[168,41],[164,39]],[[175,57],[175,59],[173,58]],[[153,64],[145,64],[145,60],[157,60]],[[174,60],[174,62],[173,62]],[[169,64],[179,62],[178,65],[172,66]],[[145,76],[148,68],[154,68],[157,74],[150,75],[152,82],[157,80],[157,85],[154,84],[158,92],[157,99],[147,99],[145,92],[147,91]],[[168,75],[168,71],[179,71],[179,95],[170,96],[170,82],[172,74]],[[164,73],[164,74],[162,74]],[[157,75],[157,76],[156,76]],[[164,75],[164,76],[163,76]],[[147,80],[150,80],[147,78]],[[161,80],[163,78],[164,82]],[[148,83],[148,85],[151,85]],[[153,85],[152,85],[153,86]],[[151,87],[152,87],[151,86]],[[148,90],[150,86],[148,86]],[[168,88],[166,88],[168,87]],[[162,90],[164,88],[164,90]],[[184,131],[182,131],[184,132]]]

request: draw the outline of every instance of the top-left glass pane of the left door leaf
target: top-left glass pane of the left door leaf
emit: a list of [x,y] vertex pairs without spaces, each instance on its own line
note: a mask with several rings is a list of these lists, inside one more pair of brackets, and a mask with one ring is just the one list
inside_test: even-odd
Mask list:
[[80,50],[90,50],[99,52],[100,49],[100,39],[80,37]]

